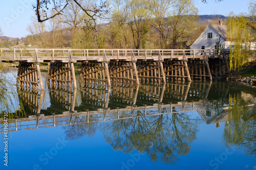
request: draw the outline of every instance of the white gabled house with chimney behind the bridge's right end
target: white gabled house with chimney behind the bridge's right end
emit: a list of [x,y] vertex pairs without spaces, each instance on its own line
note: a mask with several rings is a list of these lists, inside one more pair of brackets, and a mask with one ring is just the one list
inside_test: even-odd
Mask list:
[[223,48],[227,48],[230,45],[230,41],[227,41],[227,26],[222,25],[222,20],[219,20],[219,25],[208,25],[197,40],[190,46],[190,49],[214,50],[217,48],[216,43],[219,40]]

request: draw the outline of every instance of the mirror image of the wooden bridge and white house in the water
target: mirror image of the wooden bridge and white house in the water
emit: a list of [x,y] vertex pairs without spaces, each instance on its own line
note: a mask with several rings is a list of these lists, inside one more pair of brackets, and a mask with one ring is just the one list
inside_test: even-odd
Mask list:
[[[220,88],[221,87],[221,88]],[[188,82],[109,86],[80,89],[48,87],[40,91],[17,87],[20,112],[10,119],[10,130],[75,125],[197,111],[207,124],[227,122],[229,84]],[[46,92],[50,107],[41,109]],[[80,102],[78,102],[80,100]],[[79,103],[79,104],[78,104]],[[228,122],[226,123],[228,125]],[[3,132],[3,128],[1,129]]]

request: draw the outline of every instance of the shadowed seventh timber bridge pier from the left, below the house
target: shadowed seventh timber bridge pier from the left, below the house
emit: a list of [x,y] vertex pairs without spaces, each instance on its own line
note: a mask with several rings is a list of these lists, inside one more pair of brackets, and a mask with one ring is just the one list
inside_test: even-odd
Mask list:
[[209,64],[207,60],[188,60],[189,74],[191,79],[212,80]]

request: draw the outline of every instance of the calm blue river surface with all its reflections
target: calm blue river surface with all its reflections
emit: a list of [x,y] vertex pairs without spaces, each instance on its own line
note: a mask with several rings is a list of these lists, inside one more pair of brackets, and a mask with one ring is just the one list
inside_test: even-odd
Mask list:
[[[14,84],[15,75],[1,76]],[[256,168],[255,94],[242,86],[45,87],[1,87],[1,110],[15,114],[0,169]]]

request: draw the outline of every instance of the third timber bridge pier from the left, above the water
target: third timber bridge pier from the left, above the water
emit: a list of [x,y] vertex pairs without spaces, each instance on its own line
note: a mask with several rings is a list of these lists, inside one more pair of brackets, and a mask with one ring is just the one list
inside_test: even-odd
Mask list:
[[80,87],[89,84],[107,84],[111,86],[108,62],[84,61],[79,76]]

